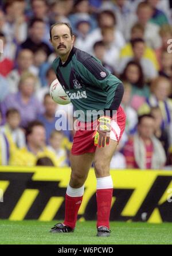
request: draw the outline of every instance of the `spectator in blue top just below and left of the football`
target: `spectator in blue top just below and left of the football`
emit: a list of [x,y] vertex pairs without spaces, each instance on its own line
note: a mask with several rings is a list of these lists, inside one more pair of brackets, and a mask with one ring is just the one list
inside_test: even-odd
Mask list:
[[[38,115],[37,119],[41,121],[46,130],[46,143],[48,144],[50,134],[56,127],[57,117],[56,117],[56,110],[57,110],[57,104],[52,100],[49,93],[45,94],[44,96],[44,108],[45,112],[44,114]],[[68,127],[68,123],[67,123]],[[63,131],[65,136],[70,138],[70,131],[64,130]]]

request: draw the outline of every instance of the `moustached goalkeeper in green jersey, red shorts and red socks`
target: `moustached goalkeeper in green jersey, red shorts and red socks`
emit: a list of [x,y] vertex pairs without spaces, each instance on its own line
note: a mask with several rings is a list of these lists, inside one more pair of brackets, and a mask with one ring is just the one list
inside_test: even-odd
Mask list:
[[[69,24],[59,22],[50,28],[50,42],[57,57],[53,68],[75,110],[82,110],[71,150],[71,179],[65,196],[65,220],[50,232],[73,232],[76,226],[84,183],[92,162],[97,179],[97,236],[110,235],[110,211],[113,183],[110,176],[111,158],[121,138],[126,116],[120,102],[123,84],[111,75],[99,60],[73,46],[75,36]],[[88,110],[102,113],[88,118]],[[98,119],[98,122],[97,122]],[[94,127],[97,122],[97,127]],[[91,123],[91,129],[88,127]],[[83,129],[84,128],[84,129]]]

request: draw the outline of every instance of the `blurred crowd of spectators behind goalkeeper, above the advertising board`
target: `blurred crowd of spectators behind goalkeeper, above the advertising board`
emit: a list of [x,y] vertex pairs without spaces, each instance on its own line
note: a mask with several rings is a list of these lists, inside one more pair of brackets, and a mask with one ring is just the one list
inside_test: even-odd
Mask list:
[[72,113],[49,95],[55,22],[69,22],[75,46],[124,84],[126,131],[111,168],[172,169],[170,0],[0,1],[0,165],[70,165],[75,131],[58,131],[55,114]]

